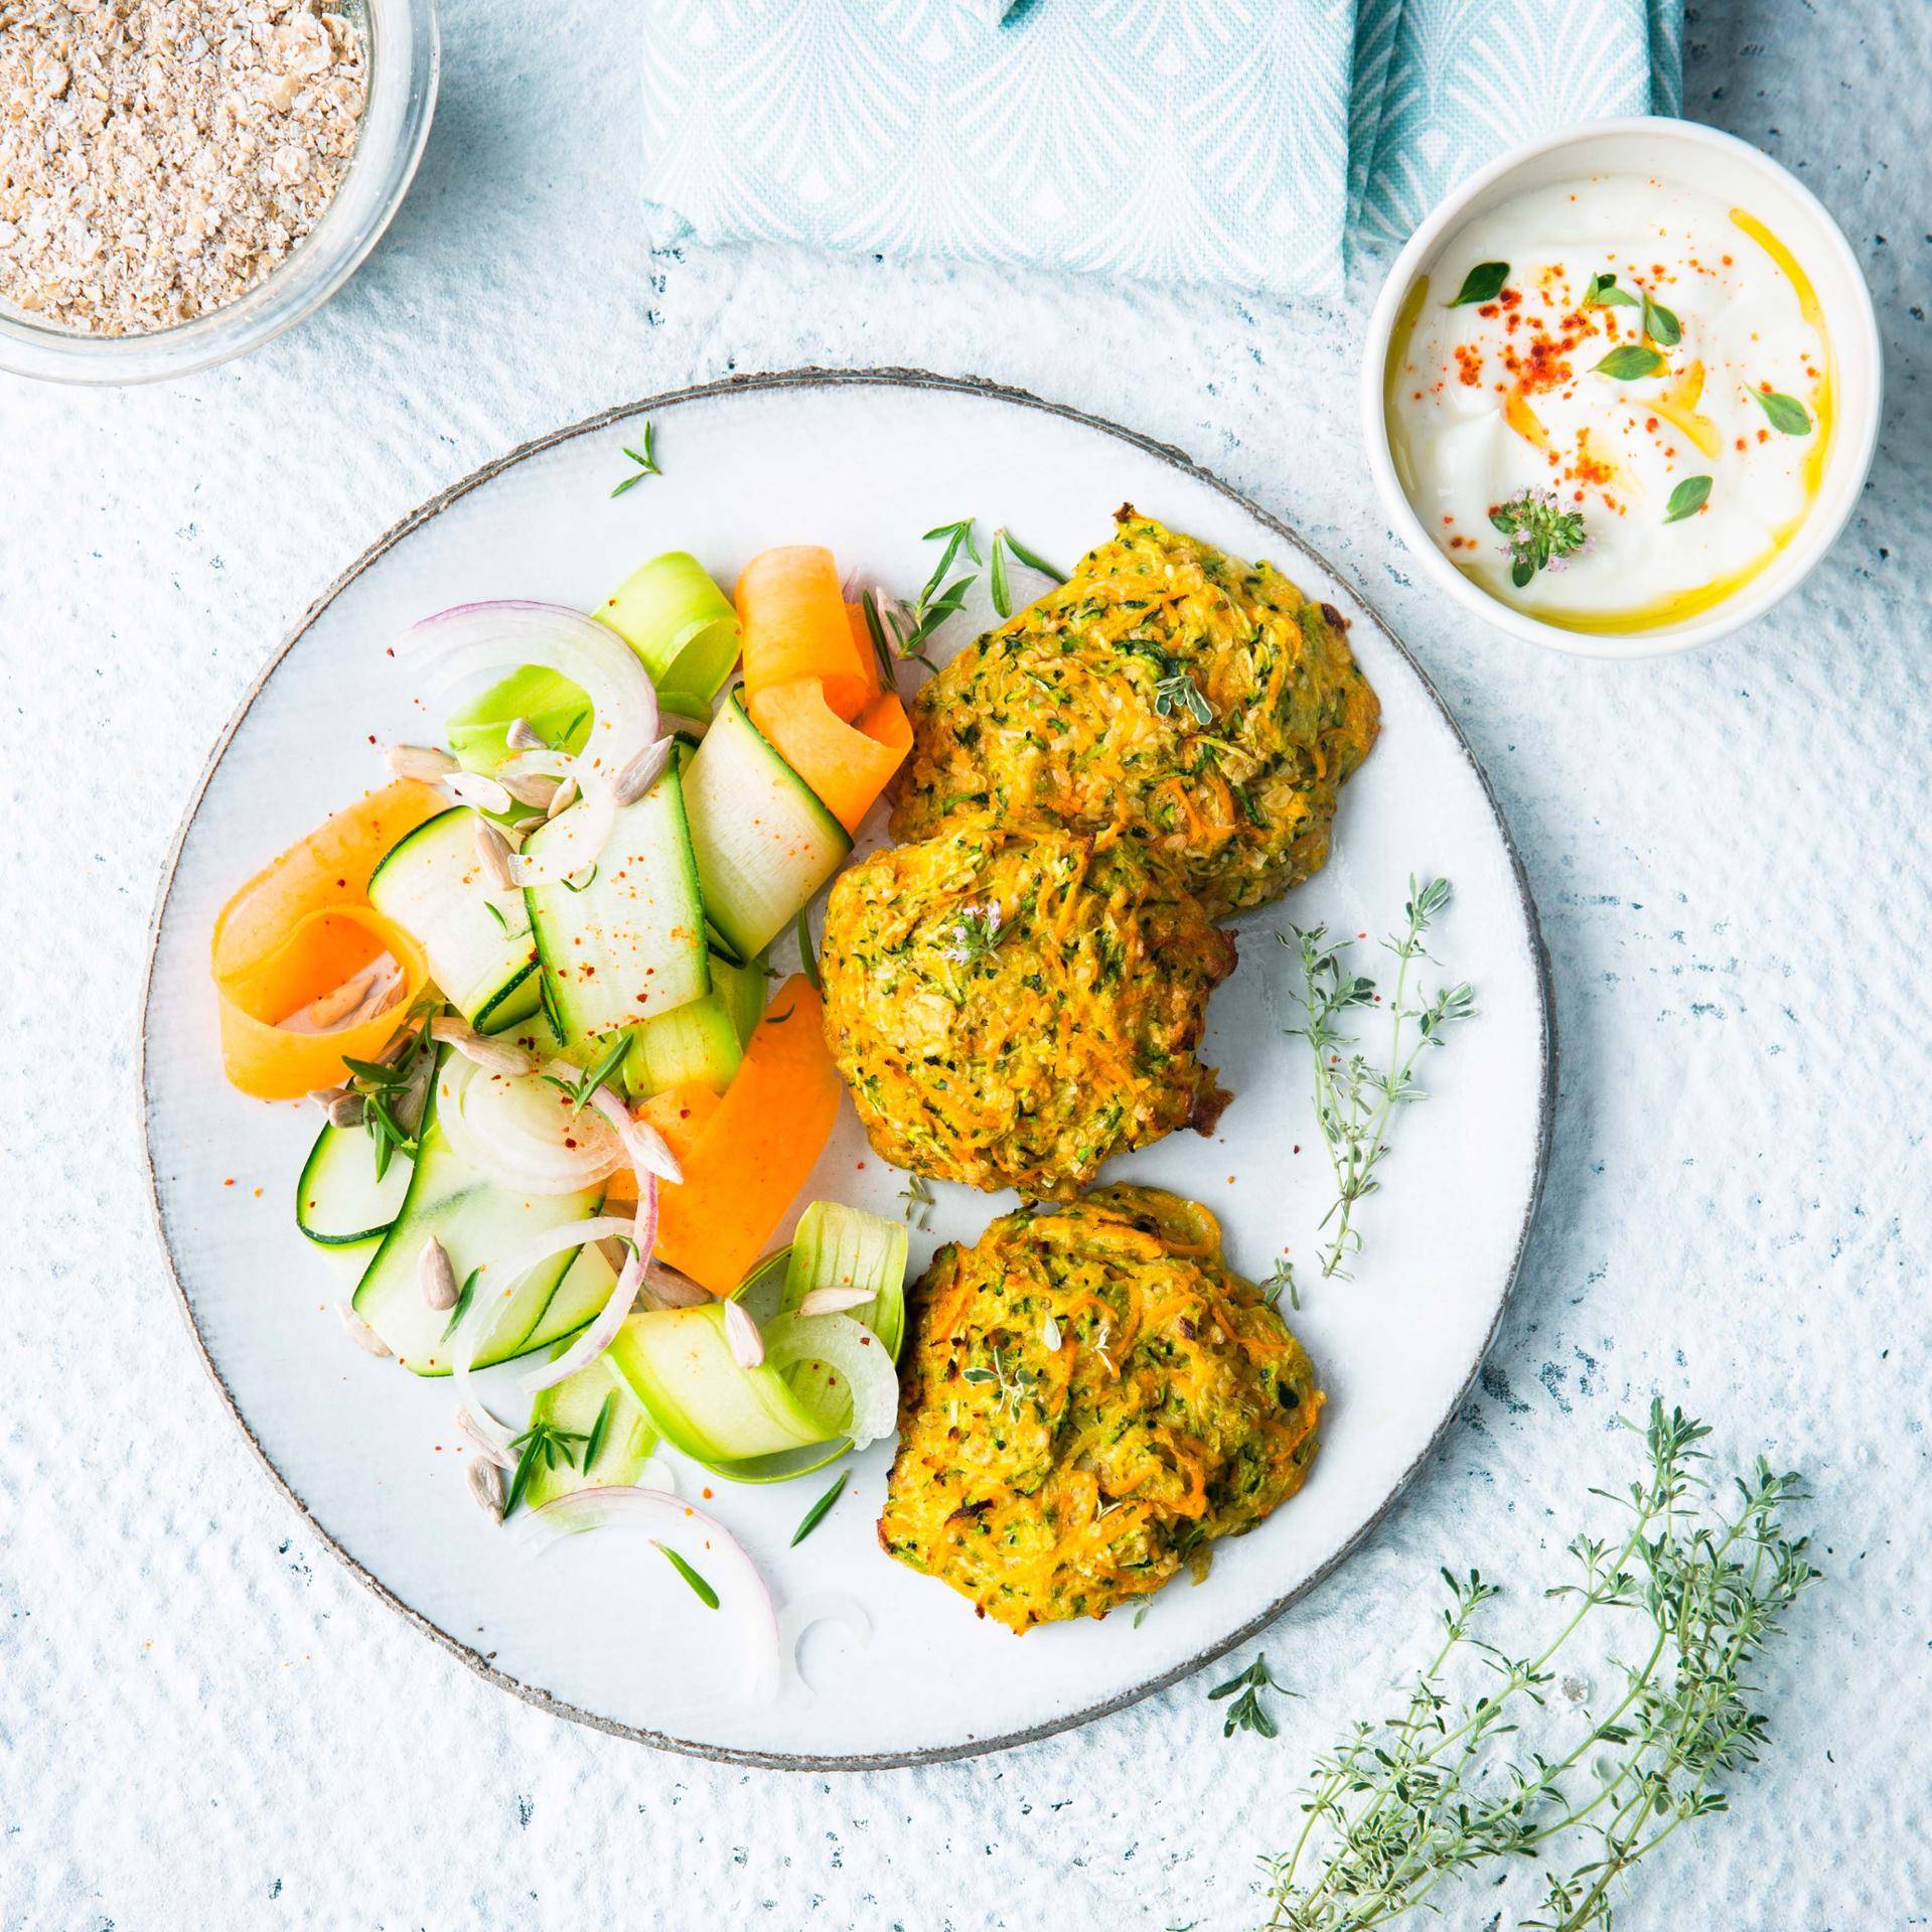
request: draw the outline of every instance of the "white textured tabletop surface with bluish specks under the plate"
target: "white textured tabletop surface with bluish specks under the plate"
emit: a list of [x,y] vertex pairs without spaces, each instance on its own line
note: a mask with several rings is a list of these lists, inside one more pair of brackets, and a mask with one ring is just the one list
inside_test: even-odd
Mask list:
[[[1540,1580],[1611,1418],[1652,1393],[1812,1474],[1830,1582],[1774,1663],[1770,1762],[1621,1922],[1926,1922],[1922,0],[1692,17],[1689,110],[1801,168],[1870,272],[1888,419],[1801,599],[1623,668],[1511,647],[1410,583],[1358,456],[1362,290],[1291,313],[782,249],[647,259],[626,10],[446,12],[423,176],[325,315],[170,388],[0,379],[0,1924],[1238,1928],[1308,1754],[1414,1654],[1435,1565]],[[303,1538],[162,1283],[131,1078],[147,918],[255,668],[371,537],[524,437],[810,361],[1018,383],[1294,520],[1414,645],[1522,844],[1563,1036],[1542,1225],[1445,1447],[1271,1633],[1304,1692],[1273,1745],[1225,1745],[1202,1683],[858,1777],[558,1723]],[[1447,1924],[1490,1909],[1464,1897]]]

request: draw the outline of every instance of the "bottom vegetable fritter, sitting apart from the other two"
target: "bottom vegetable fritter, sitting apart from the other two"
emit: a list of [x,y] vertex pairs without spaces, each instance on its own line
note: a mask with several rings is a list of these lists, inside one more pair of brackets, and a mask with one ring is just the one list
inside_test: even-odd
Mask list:
[[910,1320],[879,1542],[1014,1631],[1159,1590],[1314,1461],[1302,1345],[1159,1188],[1001,1215]]

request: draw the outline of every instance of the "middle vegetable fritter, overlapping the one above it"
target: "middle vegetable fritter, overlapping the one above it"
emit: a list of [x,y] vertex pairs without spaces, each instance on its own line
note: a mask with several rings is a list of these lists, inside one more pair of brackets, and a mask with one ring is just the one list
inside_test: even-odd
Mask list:
[[962,817],[846,869],[825,1037],[896,1167],[1065,1200],[1111,1153],[1204,1132],[1194,1057],[1235,941],[1121,833]]

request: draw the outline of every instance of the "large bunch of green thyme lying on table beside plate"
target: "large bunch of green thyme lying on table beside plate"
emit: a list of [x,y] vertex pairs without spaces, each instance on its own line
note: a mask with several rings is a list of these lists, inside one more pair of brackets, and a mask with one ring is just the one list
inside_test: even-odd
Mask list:
[[[1316,1760],[1300,1835],[1264,1861],[1273,1932],[1368,1932],[1519,1859],[1546,1864],[1519,1932],[1609,1932],[1631,1866],[1725,1810],[1725,1779],[1756,1764],[1768,1737],[1760,1658],[1820,1575],[1785,1530],[1806,1492],[1760,1457],[1727,1513],[1733,1486],[1708,1472],[1702,1422],[1654,1401],[1634,1434],[1640,1480],[1592,1490],[1627,1513],[1625,1534],[1567,1546],[1575,1575],[1544,1592],[1565,1609],[1536,1648],[1519,1656],[1476,1634],[1499,1588],[1443,1571],[1443,1640],[1406,1702]],[[1575,1665],[1559,1675],[1584,1631],[1602,1638],[1592,1665],[1609,1654],[1602,1700]],[[1463,1660],[1482,1671],[1480,1694],[1451,1689]]]

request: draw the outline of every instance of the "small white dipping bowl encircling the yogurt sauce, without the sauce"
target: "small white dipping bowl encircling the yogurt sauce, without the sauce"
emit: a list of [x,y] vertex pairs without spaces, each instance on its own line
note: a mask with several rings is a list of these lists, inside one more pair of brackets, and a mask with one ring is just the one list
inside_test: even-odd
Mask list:
[[[1679,624],[1656,630],[1600,632],[1565,630],[1546,624],[1492,597],[1472,583],[1422,527],[1414,504],[1403,491],[1389,450],[1387,365],[1389,340],[1403,301],[1426,274],[1441,245],[1472,216],[1536,187],[1594,174],[1644,174],[1702,189],[1750,209],[1799,259],[1824,309],[1824,327],[1833,357],[1833,408],[1837,412],[1824,483],[1804,524],[1791,543],[1748,583],[1723,603],[1700,611]],[[1416,566],[1449,599],[1484,618],[1511,638],[1546,643],[1578,657],[1658,657],[1689,651],[1729,636],[1764,616],[1781,597],[1810,576],[1818,558],[1832,549],[1845,527],[1878,444],[1882,390],[1882,352],[1878,321],[1864,274],[1837,222],[1810,189],[1758,149],[1716,128],[1662,116],[1584,122],[1563,133],[1544,135],[1511,149],[1472,174],[1408,238],[1389,280],[1376,299],[1368,323],[1368,352],[1362,357],[1362,425],[1368,440],[1368,468],[1376,477],[1389,524],[1408,547]]]

